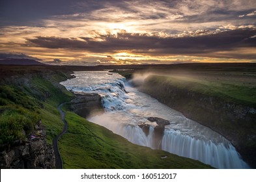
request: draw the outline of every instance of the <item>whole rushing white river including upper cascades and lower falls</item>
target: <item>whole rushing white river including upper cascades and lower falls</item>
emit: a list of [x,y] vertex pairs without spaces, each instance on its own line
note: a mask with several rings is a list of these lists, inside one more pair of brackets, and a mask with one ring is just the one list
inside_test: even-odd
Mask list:
[[[76,78],[61,84],[73,92],[93,92],[102,96],[106,112],[90,116],[90,122],[98,123],[134,144],[163,149],[216,168],[249,168],[223,136],[139,92],[121,75],[108,72],[76,72],[74,75]],[[157,124],[149,122],[149,117],[170,122],[165,125],[160,140],[156,140]],[[148,131],[145,132],[141,125],[147,125]]]

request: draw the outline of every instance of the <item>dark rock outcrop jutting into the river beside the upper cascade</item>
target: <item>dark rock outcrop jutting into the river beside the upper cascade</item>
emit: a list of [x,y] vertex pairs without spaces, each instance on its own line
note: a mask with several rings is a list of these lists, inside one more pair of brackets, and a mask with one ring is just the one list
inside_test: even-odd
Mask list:
[[74,93],[76,98],[71,102],[71,110],[79,116],[86,118],[92,112],[103,112],[102,100],[99,94]]

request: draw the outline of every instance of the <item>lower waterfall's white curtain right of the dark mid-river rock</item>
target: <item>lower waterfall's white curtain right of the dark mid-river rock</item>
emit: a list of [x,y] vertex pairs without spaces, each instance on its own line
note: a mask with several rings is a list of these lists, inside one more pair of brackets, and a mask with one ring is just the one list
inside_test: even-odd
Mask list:
[[162,139],[162,149],[183,157],[199,160],[216,168],[248,168],[236,149],[227,140],[214,143],[211,140],[199,140],[191,136],[180,135],[175,131],[166,131]]

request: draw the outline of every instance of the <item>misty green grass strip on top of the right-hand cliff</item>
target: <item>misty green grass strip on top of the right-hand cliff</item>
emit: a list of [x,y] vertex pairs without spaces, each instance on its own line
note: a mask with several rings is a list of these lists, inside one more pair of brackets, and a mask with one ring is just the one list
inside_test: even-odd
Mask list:
[[256,85],[246,80],[232,78],[191,77],[186,75],[152,75],[147,81],[162,85],[176,86],[207,96],[221,98],[224,101],[251,107],[256,106]]

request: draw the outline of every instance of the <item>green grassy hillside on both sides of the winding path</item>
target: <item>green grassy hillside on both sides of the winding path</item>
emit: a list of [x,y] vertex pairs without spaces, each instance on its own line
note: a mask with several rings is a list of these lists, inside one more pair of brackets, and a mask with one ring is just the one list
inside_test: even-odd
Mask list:
[[[12,70],[11,75],[4,71],[9,75],[0,77],[1,151],[26,140],[38,120],[45,125],[51,144],[63,129],[57,106],[74,98],[59,85],[70,72],[45,67]],[[68,133],[59,143],[64,168],[211,168],[199,161],[131,144],[104,127],[66,112]],[[164,156],[167,158],[162,159]]]

